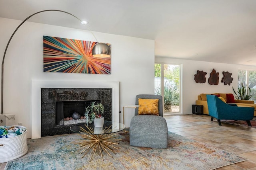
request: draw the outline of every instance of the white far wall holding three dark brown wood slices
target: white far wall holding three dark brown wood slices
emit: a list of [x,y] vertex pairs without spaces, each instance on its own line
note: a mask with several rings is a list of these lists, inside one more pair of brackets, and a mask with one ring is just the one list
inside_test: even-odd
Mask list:
[[[233,93],[232,86],[237,90],[238,86],[238,69],[252,69],[256,70],[256,66],[246,66],[237,64],[223,64],[223,63],[210,63],[204,61],[191,61],[191,60],[181,60],[181,59],[168,59],[164,57],[156,57],[155,62],[168,63],[168,64],[182,64],[182,113],[191,114],[192,104],[196,103],[197,96],[201,93]],[[208,83],[208,78],[212,69],[219,72],[219,84],[210,85]],[[206,83],[196,83],[194,80],[194,74],[197,70],[203,70],[207,72]],[[230,86],[224,85],[221,82],[223,77],[222,71],[228,71],[232,73],[233,82]]]

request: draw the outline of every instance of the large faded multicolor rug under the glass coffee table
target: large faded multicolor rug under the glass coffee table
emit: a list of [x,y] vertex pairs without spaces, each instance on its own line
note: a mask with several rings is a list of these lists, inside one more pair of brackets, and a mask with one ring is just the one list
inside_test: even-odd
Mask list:
[[91,162],[72,144],[81,139],[78,134],[28,139],[28,153],[8,162],[5,170],[210,170],[247,160],[170,132],[168,149],[132,147],[128,133],[118,138],[113,158],[104,153],[102,161],[96,154]]

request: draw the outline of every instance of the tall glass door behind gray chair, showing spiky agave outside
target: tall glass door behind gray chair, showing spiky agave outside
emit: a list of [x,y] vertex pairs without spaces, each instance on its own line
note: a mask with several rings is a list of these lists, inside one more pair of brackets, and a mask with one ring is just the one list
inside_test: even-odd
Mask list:
[[180,112],[180,65],[155,64],[155,94],[163,96],[164,114]]

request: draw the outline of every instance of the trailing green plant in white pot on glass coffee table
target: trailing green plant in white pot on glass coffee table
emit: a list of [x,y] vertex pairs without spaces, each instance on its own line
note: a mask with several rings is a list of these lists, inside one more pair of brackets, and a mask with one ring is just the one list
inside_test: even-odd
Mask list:
[[94,127],[103,127],[104,124],[104,117],[101,116],[104,112],[104,106],[101,103],[95,104],[95,102],[92,102],[92,104],[85,109],[85,119],[86,123],[92,123],[94,121]]

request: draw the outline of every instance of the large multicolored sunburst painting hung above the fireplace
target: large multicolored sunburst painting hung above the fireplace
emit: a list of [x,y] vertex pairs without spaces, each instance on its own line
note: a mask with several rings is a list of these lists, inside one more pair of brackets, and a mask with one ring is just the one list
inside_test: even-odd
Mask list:
[[93,57],[95,44],[97,42],[44,36],[44,72],[110,74],[111,57]]

